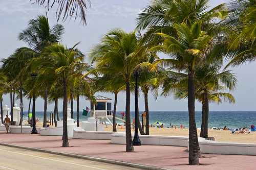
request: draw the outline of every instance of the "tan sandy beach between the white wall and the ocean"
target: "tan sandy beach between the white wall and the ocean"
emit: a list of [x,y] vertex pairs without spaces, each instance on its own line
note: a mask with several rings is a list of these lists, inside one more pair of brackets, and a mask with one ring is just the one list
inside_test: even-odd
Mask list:
[[[25,122],[25,124],[28,124]],[[50,123],[47,123],[47,125]],[[42,122],[38,122],[36,127],[42,127]],[[54,125],[50,125],[54,127]],[[104,125],[104,131],[111,132],[112,126]],[[125,127],[121,129],[121,126],[117,126],[118,132],[125,132]],[[134,130],[132,129],[132,132]],[[197,131],[198,136],[200,135],[200,130]],[[188,129],[170,129],[170,128],[150,128],[150,135],[165,135],[165,136],[188,136]],[[239,143],[256,143],[256,132],[250,132],[250,134],[235,134],[231,131],[220,131],[220,130],[208,130],[208,137],[214,137],[216,141],[224,142],[239,142]]]

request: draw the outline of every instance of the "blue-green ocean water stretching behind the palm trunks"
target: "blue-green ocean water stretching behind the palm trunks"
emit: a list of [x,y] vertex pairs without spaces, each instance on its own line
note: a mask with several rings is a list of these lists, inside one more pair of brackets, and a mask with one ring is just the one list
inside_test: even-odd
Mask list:
[[[124,112],[124,111],[118,111]],[[139,114],[143,114],[144,111],[139,112]],[[47,112],[47,119],[50,119],[50,113]],[[131,121],[133,120],[135,112],[131,111]],[[169,125],[172,124],[174,127],[184,126],[188,128],[188,111],[150,111],[150,125],[157,126],[155,122],[161,122],[165,128],[170,127]],[[82,112],[79,115],[79,122],[87,120],[90,116],[90,112],[88,116],[83,116]],[[24,117],[27,117],[27,115]],[[44,112],[43,111],[36,111],[36,117],[43,121]],[[77,112],[74,111],[74,120],[77,121]],[[62,118],[62,112],[59,111],[59,118]],[[201,119],[202,119],[202,111],[195,112],[196,124],[197,128],[201,128]],[[25,120],[25,118],[24,118]],[[112,120],[112,119],[110,119]],[[140,116],[141,120],[141,116]],[[102,121],[102,120],[100,120]],[[123,122],[120,120],[116,120],[117,124],[124,125]],[[109,124],[108,121],[106,121]],[[224,128],[227,126],[229,129],[239,129],[243,128],[244,126],[251,127],[251,125],[256,125],[256,111],[209,111],[209,119],[208,119],[208,128],[219,127]]]

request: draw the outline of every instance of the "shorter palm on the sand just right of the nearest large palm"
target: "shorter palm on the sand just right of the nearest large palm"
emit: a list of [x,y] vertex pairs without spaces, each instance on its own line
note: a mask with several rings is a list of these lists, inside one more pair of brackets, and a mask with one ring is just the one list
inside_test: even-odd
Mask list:
[[[200,137],[208,137],[208,114],[209,114],[209,95],[210,92],[214,93],[220,89],[228,88],[230,91],[234,90],[237,86],[236,77],[230,72],[230,70],[220,72],[222,60],[214,61],[201,65],[196,68],[195,78],[198,88],[202,91],[203,96],[199,100],[203,104],[203,116],[202,116],[202,128]],[[223,85],[223,86],[221,86]],[[200,92],[199,90],[199,92]],[[218,96],[224,99],[229,99],[230,103],[234,102],[232,95],[228,93],[218,93]],[[205,114],[204,114],[205,113]],[[205,115],[205,119],[204,118]]]

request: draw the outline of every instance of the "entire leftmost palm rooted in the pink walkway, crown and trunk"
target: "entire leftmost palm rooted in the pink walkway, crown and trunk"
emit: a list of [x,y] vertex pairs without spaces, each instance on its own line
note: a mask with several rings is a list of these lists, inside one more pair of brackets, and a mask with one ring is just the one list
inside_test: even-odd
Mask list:
[[[77,45],[77,44],[76,44]],[[76,46],[75,45],[75,46]],[[74,47],[75,47],[74,46]],[[45,47],[43,52],[44,58],[36,58],[33,62],[34,70],[39,68],[39,74],[52,75],[51,79],[54,79],[54,83],[51,89],[55,87],[56,84],[62,86],[63,94],[63,136],[62,136],[62,147],[69,147],[68,141],[68,128],[67,128],[67,108],[68,108],[68,96],[67,96],[67,86],[70,80],[74,76],[79,76],[86,64],[82,63],[83,56],[77,56],[77,50],[74,47],[68,49],[62,44],[53,44],[51,46]]]

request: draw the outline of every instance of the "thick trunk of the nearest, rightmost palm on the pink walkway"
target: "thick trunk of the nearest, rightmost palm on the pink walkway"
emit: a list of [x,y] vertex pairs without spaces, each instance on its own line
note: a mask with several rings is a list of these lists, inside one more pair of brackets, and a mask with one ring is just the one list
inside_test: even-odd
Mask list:
[[188,114],[189,114],[189,165],[199,165],[197,153],[197,126],[195,119],[195,85],[194,85],[195,71],[190,68],[188,71]]

